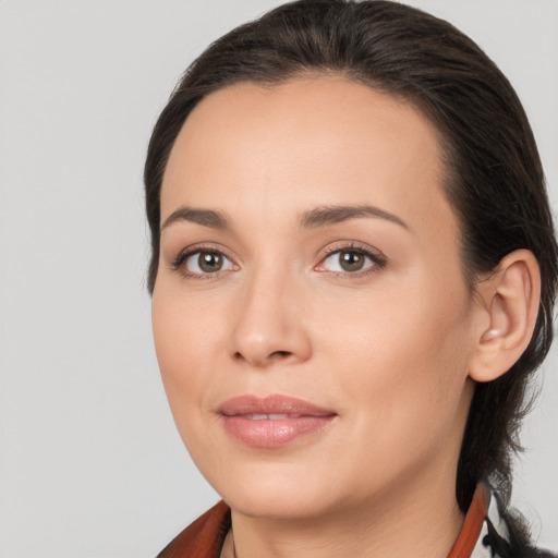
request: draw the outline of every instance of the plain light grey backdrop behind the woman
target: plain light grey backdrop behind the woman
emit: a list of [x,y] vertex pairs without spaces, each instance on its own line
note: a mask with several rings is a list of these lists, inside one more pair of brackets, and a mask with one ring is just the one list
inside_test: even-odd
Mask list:
[[[175,81],[271,0],[0,3],[0,557],[153,557],[217,500],[175,433],[145,288],[142,170]],[[414,0],[510,77],[558,201],[558,2]],[[557,353],[515,504],[558,549]]]

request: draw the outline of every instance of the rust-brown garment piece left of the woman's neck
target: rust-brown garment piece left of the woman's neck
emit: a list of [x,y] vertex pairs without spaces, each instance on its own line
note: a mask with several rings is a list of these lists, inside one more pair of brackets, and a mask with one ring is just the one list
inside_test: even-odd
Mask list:
[[230,525],[230,509],[221,500],[174,537],[157,558],[218,558]]

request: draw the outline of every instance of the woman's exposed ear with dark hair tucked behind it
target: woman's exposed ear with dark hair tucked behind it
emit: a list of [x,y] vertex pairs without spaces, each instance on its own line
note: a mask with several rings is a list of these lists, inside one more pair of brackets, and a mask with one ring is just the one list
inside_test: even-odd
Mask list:
[[476,290],[478,319],[469,376],[490,381],[513,366],[533,336],[541,299],[535,256],[527,250],[511,252]]

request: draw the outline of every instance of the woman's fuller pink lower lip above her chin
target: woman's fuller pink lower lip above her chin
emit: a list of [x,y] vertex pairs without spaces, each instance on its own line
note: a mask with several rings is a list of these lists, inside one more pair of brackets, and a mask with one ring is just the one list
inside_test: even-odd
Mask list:
[[277,448],[312,433],[324,429],[335,415],[298,416],[254,421],[242,415],[223,415],[225,429],[232,437],[256,448]]

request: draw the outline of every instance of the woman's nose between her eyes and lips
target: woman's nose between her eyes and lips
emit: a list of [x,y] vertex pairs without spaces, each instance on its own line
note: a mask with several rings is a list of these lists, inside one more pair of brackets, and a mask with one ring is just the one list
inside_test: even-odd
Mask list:
[[230,352],[241,363],[267,367],[310,359],[312,343],[296,281],[271,271],[252,277],[236,299]]

